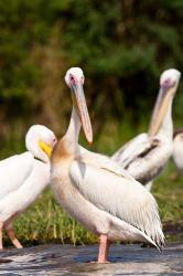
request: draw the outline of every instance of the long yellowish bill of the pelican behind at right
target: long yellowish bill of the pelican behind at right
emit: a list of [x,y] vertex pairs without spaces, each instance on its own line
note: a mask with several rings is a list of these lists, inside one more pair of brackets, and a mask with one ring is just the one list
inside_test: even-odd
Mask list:
[[149,127],[149,136],[158,134],[163,118],[168,112],[169,104],[173,99],[173,95],[176,88],[172,87],[160,87],[157,103],[152,113],[151,123]]

